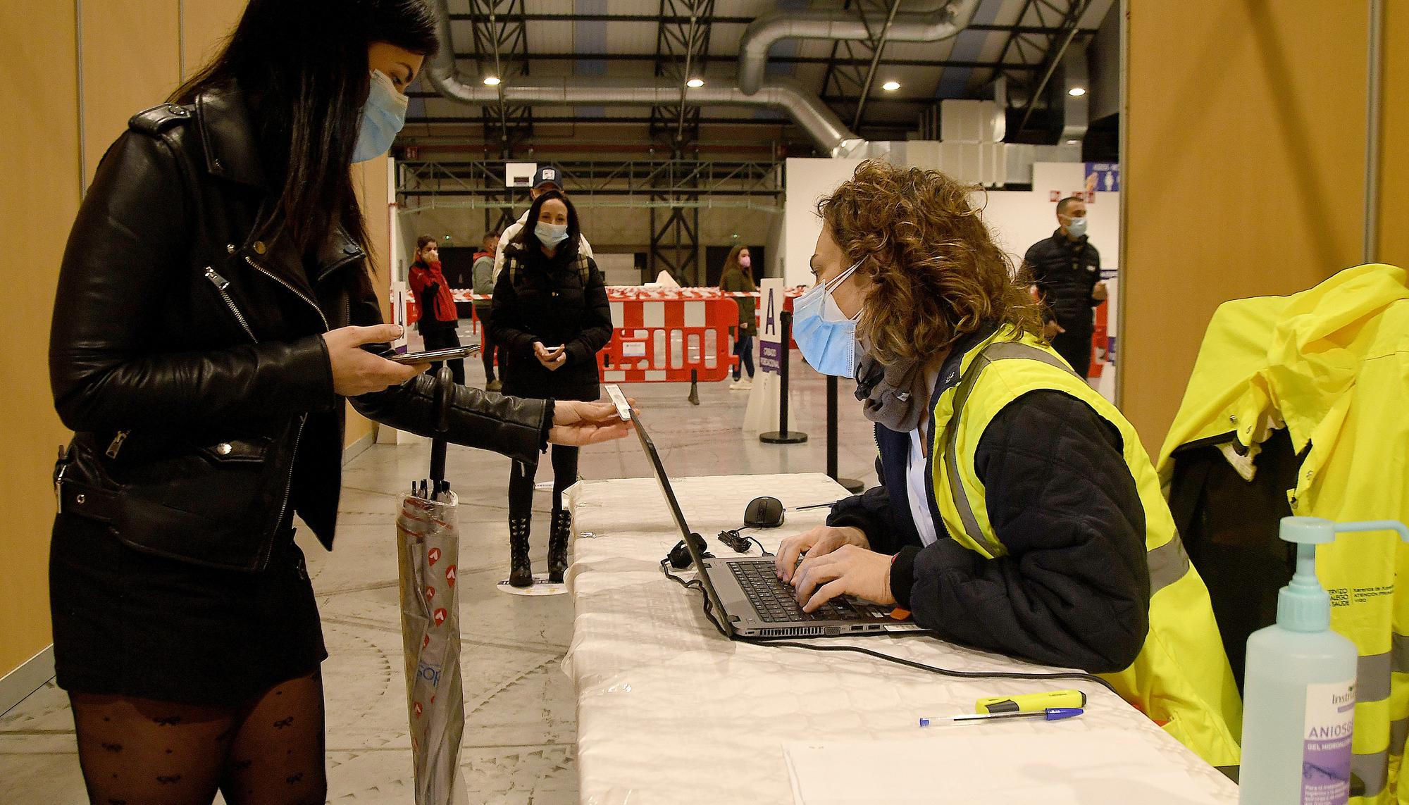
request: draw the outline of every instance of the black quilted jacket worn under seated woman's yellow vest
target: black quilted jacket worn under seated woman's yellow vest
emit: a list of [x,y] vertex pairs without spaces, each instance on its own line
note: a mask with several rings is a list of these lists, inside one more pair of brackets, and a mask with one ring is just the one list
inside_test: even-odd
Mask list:
[[975,467],[1009,552],[992,560],[948,536],[933,495],[940,539],[920,547],[906,500],[910,436],[876,426],[876,442],[885,486],[838,502],[827,524],[857,526],[874,550],[896,554],[890,588],[919,623],[945,640],[1092,673],[1134,661],[1148,629],[1144,507],[1120,433],[1089,405],[1033,391],[983,431]]

